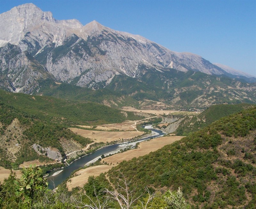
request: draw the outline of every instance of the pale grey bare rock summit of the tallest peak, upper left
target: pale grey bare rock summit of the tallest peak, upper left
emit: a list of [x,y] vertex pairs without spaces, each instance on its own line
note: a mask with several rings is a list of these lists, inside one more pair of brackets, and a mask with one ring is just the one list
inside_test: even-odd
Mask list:
[[53,42],[62,43],[67,34],[76,33],[82,27],[76,19],[56,20],[52,12],[43,12],[35,4],[22,4],[0,14],[0,47],[8,42],[18,45],[28,32],[45,40],[50,34]]

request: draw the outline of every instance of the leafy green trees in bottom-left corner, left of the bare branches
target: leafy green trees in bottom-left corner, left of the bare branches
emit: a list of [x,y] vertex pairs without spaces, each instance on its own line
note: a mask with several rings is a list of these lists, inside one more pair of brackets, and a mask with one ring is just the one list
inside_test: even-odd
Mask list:
[[74,209],[71,202],[64,188],[48,189],[39,167],[23,168],[20,179],[11,171],[8,179],[0,184],[0,208],[3,209]]

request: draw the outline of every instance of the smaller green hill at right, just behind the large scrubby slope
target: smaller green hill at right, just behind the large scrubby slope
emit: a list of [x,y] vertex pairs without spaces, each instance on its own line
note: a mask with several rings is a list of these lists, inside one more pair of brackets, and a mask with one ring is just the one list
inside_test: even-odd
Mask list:
[[200,128],[210,125],[212,122],[219,120],[222,117],[230,114],[240,112],[244,109],[253,107],[251,104],[237,104],[237,105],[213,105],[207,108],[204,112],[193,117],[186,116],[176,130],[177,135],[188,135]]

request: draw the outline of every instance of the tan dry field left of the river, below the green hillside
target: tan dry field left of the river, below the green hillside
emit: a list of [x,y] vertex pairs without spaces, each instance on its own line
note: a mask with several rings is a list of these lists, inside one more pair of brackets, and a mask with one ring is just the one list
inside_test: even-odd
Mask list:
[[112,142],[120,139],[131,139],[142,135],[141,131],[91,131],[79,128],[69,128],[75,134],[94,139],[95,142]]

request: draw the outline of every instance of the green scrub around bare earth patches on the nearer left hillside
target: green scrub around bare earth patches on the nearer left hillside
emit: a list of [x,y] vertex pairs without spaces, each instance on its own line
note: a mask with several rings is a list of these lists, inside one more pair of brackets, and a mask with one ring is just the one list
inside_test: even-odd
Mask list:
[[[6,168],[17,168],[21,163],[30,160],[49,160],[45,155],[38,155],[35,150],[31,148],[34,143],[42,147],[57,148],[62,157],[65,158],[64,150],[59,142],[60,138],[72,139],[81,145],[85,146],[91,143],[91,139],[74,134],[68,128],[61,124],[56,124],[47,120],[40,120],[35,115],[29,115],[26,112],[21,112],[16,108],[0,103],[0,166]],[[10,135],[5,141],[4,136],[9,134],[7,127],[14,119],[18,119],[22,135]],[[10,133],[11,134],[11,133]],[[15,162],[8,158],[7,146],[11,141],[16,141],[19,144],[20,150],[16,153]]]

